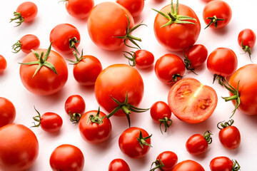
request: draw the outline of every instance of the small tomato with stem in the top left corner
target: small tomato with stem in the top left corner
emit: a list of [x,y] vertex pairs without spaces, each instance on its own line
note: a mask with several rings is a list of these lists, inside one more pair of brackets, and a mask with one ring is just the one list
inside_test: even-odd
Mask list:
[[[23,22],[30,22],[35,19],[38,12],[36,4],[31,1],[21,3],[14,12],[14,18],[11,21],[16,21],[16,26],[20,26]],[[10,22],[11,22],[10,21]]]

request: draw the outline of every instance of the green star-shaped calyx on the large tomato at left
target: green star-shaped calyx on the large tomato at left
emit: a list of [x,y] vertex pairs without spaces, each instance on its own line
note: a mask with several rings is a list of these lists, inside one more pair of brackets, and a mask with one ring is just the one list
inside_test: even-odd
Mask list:
[[47,58],[49,57],[49,54],[51,52],[51,43],[49,48],[46,51],[46,55],[44,56],[44,52],[42,52],[39,56],[39,53],[36,53],[36,51],[32,50],[31,51],[34,53],[34,55],[36,56],[36,58],[38,59],[38,61],[32,61],[32,62],[28,62],[28,63],[19,63],[21,65],[39,65],[38,68],[36,68],[36,71],[34,73],[34,75],[32,76],[32,78],[34,78],[34,76],[36,75],[36,73],[40,70],[40,68],[42,66],[46,66],[47,68],[51,69],[51,71],[53,71],[54,73],[56,73],[56,75],[58,75],[58,73],[56,72],[56,68],[54,68],[54,65],[49,63],[47,60]]

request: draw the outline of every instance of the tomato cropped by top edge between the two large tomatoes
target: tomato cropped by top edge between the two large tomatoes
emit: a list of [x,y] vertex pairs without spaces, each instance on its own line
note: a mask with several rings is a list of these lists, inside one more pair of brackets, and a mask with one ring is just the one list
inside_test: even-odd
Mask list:
[[139,16],[143,11],[144,0],[116,0],[116,3],[128,9],[133,17]]

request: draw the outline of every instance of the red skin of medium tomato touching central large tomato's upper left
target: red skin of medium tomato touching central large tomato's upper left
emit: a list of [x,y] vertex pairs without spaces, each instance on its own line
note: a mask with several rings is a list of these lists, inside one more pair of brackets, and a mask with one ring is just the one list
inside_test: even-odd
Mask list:
[[96,83],[96,78],[103,68],[98,58],[94,56],[83,57],[79,63],[74,65],[74,78],[82,86],[92,86]]

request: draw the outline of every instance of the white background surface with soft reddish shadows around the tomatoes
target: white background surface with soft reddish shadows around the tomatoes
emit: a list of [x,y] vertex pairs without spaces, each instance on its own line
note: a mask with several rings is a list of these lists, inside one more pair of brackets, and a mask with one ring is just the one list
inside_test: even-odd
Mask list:
[[[235,120],[234,125],[241,132],[241,145],[236,150],[226,150],[221,145],[218,140],[219,130],[216,128],[216,124],[222,120],[228,120],[234,106],[231,102],[225,103],[221,98],[221,96],[227,96],[228,91],[218,85],[217,82],[212,84],[213,76],[207,70],[206,63],[204,63],[202,67],[196,69],[198,76],[189,71],[186,72],[186,77],[197,78],[201,83],[212,86],[218,94],[218,105],[216,110],[205,122],[196,125],[188,125],[172,115],[173,124],[171,128],[168,129],[167,133],[161,135],[158,124],[153,123],[149,111],[146,113],[133,113],[131,115],[131,126],[144,128],[149,134],[153,134],[151,138],[153,147],[146,157],[139,160],[126,157],[126,155],[119,150],[119,135],[128,128],[126,117],[117,118],[114,116],[111,118],[113,130],[111,137],[106,142],[101,143],[100,145],[91,145],[84,142],[79,135],[78,125],[72,125],[70,123],[69,116],[66,115],[64,110],[64,102],[69,95],[79,94],[86,101],[86,111],[96,110],[99,105],[94,97],[94,86],[79,86],[73,77],[73,66],[69,65],[68,82],[59,93],[49,96],[38,96],[29,93],[29,91],[24,88],[19,78],[18,62],[21,62],[26,54],[23,52],[18,54],[11,53],[11,45],[16,43],[21,36],[32,33],[39,37],[41,41],[40,48],[47,48],[49,46],[49,33],[51,29],[57,24],[69,23],[76,26],[81,33],[79,51],[83,48],[84,54],[94,55],[99,58],[103,68],[114,63],[127,63],[127,60],[123,57],[121,51],[104,51],[95,46],[89,38],[86,20],[81,21],[69,16],[64,4],[58,3],[58,0],[34,1],[39,8],[39,13],[34,22],[14,27],[14,23],[9,24],[9,19],[12,18],[13,12],[21,2],[23,1],[12,0],[0,2],[0,53],[6,58],[8,63],[6,71],[0,76],[0,96],[8,98],[14,103],[16,107],[16,119],[14,123],[21,123],[30,127],[32,125],[31,122],[33,121],[32,117],[36,115],[33,105],[36,106],[41,114],[49,111],[58,113],[64,120],[63,127],[59,133],[46,133],[44,130],[41,130],[41,128],[31,128],[39,140],[39,157],[30,170],[51,170],[51,167],[49,166],[51,152],[54,148],[64,143],[76,145],[82,150],[85,157],[84,170],[108,170],[109,162],[114,158],[121,157],[128,162],[131,170],[145,171],[150,169],[151,162],[156,159],[156,156],[165,150],[176,152],[178,155],[178,162],[188,159],[195,160],[201,163],[205,170],[209,170],[208,165],[213,157],[221,155],[238,160],[241,164],[241,170],[253,170],[253,164],[257,159],[257,118],[256,116],[247,116],[237,111],[233,116],[233,119]],[[100,2],[100,0],[96,0],[95,4],[99,4]],[[205,45],[209,53],[218,47],[233,49],[238,56],[238,68],[251,63],[248,54],[242,54],[243,51],[237,43],[237,36],[243,28],[252,28],[253,31],[257,33],[256,19],[254,18],[256,16],[256,1],[227,0],[228,4],[231,5],[233,17],[230,24],[228,24],[226,28],[220,30],[213,30],[211,28],[203,29],[206,26],[202,18],[203,7],[206,4],[205,2],[201,0],[180,0],[179,2],[191,6],[201,21],[201,34],[196,43]],[[133,35],[141,37],[143,41],[139,43],[139,45],[142,49],[151,51],[155,56],[155,61],[165,53],[172,52],[161,47],[156,41],[153,34],[153,21],[156,12],[151,8],[160,10],[169,3],[170,1],[166,0],[146,0],[143,13],[135,19],[136,24],[141,20],[143,20],[144,24],[147,24],[147,27],[141,26],[138,30],[134,31]],[[129,48],[124,48],[123,50],[130,51]],[[253,63],[256,63],[257,51],[253,48],[252,53]],[[181,53],[176,54],[181,56]],[[74,59],[72,56],[64,56],[64,58]],[[163,85],[163,83],[158,81],[153,71],[153,67],[146,71],[138,71],[143,77],[145,86],[144,96],[140,107],[150,108],[151,105],[158,100],[167,102],[167,95],[170,87]],[[186,140],[191,135],[195,133],[202,134],[206,130],[211,130],[213,133],[213,143],[209,145],[207,152],[200,156],[188,154],[185,147]]]

